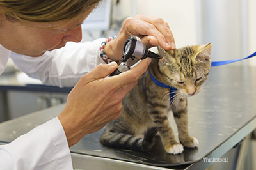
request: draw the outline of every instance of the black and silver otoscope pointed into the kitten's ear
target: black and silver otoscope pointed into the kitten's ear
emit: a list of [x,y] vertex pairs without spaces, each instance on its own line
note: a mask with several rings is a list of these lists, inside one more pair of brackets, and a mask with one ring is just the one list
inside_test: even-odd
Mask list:
[[137,63],[140,59],[145,59],[147,57],[162,59],[161,56],[148,50],[147,45],[143,44],[136,36],[130,36],[125,41],[122,53],[122,63],[113,73],[111,73],[111,76],[130,70],[131,66]]

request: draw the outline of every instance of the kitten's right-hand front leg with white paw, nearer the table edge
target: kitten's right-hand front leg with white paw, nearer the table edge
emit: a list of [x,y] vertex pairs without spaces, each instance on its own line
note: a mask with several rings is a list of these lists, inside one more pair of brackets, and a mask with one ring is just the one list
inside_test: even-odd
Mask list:
[[180,143],[185,147],[194,148],[198,146],[198,140],[189,135],[187,105],[187,98],[183,98],[178,105],[172,105],[172,111],[178,127]]

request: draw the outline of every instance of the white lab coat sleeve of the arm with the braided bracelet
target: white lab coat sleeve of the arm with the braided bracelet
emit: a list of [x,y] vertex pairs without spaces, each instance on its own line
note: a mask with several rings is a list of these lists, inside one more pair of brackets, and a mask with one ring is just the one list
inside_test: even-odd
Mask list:
[[105,63],[100,58],[100,45],[104,38],[93,42],[68,42],[61,49],[45,52],[44,55],[32,58],[12,52],[12,58],[20,71],[44,84],[60,87],[72,87],[79,79],[99,65]]

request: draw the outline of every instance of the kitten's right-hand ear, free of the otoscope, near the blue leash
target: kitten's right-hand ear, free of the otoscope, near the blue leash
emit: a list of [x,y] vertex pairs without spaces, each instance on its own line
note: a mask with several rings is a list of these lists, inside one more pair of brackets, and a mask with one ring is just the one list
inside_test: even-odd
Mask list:
[[211,49],[212,43],[207,45],[196,45],[194,46],[197,53],[195,54],[195,59],[198,61],[210,61],[211,59]]

